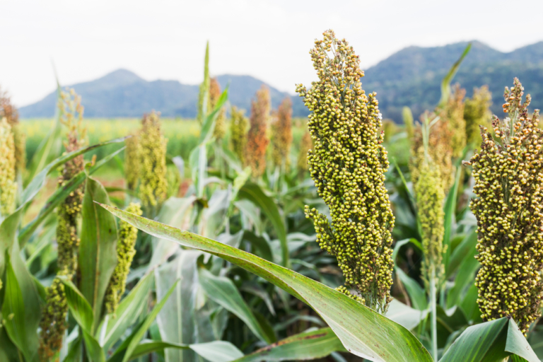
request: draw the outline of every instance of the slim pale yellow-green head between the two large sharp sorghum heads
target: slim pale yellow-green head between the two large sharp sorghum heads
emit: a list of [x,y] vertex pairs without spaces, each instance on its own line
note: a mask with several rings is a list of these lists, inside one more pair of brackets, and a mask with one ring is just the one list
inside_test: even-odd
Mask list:
[[[431,149],[428,154],[431,154]],[[422,250],[424,252],[423,274],[426,281],[432,275],[443,277],[443,233],[445,191],[440,170],[425,156],[419,169],[419,179],[413,185],[419,221],[421,223]],[[433,271],[433,273],[432,273]]]

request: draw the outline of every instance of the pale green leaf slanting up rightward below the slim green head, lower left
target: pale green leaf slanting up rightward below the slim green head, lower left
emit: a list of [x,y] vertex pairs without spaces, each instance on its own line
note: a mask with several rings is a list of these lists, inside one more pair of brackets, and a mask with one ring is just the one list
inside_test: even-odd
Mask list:
[[[107,327],[105,329],[105,337],[103,341],[103,349],[107,351],[115,342],[122,337],[124,332],[133,325],[139,315],[143,313],[147,303],[148,293],[153,285],[153,274],[146,274],[132,288],[132,291],[123,299],[115,316],[107,318]],[[101,328],[98,328],[100,330]]]

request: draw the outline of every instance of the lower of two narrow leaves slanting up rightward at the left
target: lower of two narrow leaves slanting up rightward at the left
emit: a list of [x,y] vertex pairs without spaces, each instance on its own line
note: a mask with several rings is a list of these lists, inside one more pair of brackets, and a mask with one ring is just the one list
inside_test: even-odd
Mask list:
[[[113,157],[115,157],[123,150],[124,147],[99,160],[88,170],[88,174],[92,175],[93,173],[95,173],[96,170],[105,165],[105,163],[110,161]],[[47,218],[47,216],[49,216],[49,214],[51,214],[52,211],[54,211],[54,209],[59,206],[59,204],[63,202],[64,199],[66,199],[66,197],[68,197],[71,192],[74,191],[74,189],[81,185],[81,182],[83,182],[85,178],[85,171],[81,171],[80,173],[72,177],[68,182],[66,182],[64,186],[59,187],[54,191],[49,199],[47,199],[47,202],[45,202],[45,205],[40,210],[40,213],[37,214],[37,216],[32,221],[30,221],[30,223],[25,225],[25,227],[21,230],[21,233],[19,233],[19,245],[21,245],[21,247],[25,245],[25,243],[28,241],[28,239],[34,233],[37,227],[40,226],[42,221],[44,221],[45,218]]]

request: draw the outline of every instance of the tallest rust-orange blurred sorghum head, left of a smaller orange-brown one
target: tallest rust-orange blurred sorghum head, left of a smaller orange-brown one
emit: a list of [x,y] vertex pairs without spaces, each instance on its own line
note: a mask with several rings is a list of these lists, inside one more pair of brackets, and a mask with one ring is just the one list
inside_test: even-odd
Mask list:
[[252,175],[259,177],[266,170],[266,151],[269,144],[268,124],[271,100],[269,89],[262,85],[257,91],[257,99],[252,100],[250,129],[247,134],[245,159],[252,168]]

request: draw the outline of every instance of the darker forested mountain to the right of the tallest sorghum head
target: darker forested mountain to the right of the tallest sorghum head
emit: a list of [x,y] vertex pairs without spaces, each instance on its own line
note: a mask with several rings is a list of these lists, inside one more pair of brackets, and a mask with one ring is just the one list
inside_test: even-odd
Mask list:
[[[362,78],[366,91],[377,92],[383,117],[402,122],[402,107],[411,107],[418,117],[431,110],[440,98],[440,83],[456,62],[467,42],[444,47],[407,47],[370,67]],[[499,52],[473,41],[452,83],[460,83],[471,96],[474,87],[489,86],[492,111],[500,115],[503,89],[518,77],[525,93],[532,95],[532,108],[543,107],[543,42]]]

